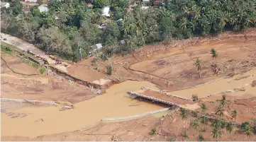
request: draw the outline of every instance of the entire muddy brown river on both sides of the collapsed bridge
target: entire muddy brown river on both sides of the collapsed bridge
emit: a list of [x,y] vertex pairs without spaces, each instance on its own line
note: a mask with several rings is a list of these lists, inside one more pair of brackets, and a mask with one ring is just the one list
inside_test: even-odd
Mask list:
[[[171,92],[175,95],[191,98],[192,94],[204,97],[212,93],[226,90],[233,90],[240,86],[252,83],[256,79],[256,70],[247,71],[242,75],[222,79],[214,83],[202,85],[198,88],[178,90]],[[141,86],[154,88],[154,84],[146,81],[126,81],[111,86],[104,95],[99,95],[79,102],[74,105],[74,110],[59,111],[61,107],[27,107],[20,110],[9,110],[13,113],[26,113],[23,118],[11,118],[1,113],[1,136],[27,136],[36,137],[48,134],[57,134],[66,131],[87,129],[101,122],[101,119],[109,117],[126,117],[133,114],[141,114],[162,107],[147,102],[131,100],[127,91],[140,90]],[[247,85],[243,92],[234,93],[237,95],[256,96],[256,88]],[[240,94],[239,94],[240,93]],[[42,122],[40,119],[44,119]]]

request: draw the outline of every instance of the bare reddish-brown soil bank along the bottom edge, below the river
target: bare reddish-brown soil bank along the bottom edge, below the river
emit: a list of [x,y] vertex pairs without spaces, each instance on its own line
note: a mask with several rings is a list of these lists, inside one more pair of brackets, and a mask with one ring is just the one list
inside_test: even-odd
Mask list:
[[[165,117],[147,116],[140,119],[132,119],[125,122],[101,122],[91,129],[38,136],[37,138],[26,137],[3,137],[3,141],[197,141],[197,129],[190,126],[189,117],[187,120],[188,137],[184,137],[184,120],[179,117],[179,112],[172,110]],[[216,141],[211,136],[211,122],[204,124],[199,134],[204,136],[204,141]],[[151,134],[151,129],[156,128],[156,133]],[[255,136],[247,137],[242,131],[236,129],[229,134],[223,129],[223,136],[218,141],[255,141]]]

